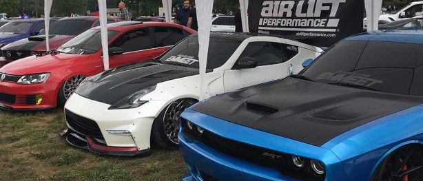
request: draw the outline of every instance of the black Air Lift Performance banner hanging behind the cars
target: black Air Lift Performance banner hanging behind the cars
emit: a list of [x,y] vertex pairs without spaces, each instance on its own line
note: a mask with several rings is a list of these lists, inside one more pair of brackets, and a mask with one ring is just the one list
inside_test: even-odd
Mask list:
[[249,1],[250,32],[329,47],[363,32],[363,0]]

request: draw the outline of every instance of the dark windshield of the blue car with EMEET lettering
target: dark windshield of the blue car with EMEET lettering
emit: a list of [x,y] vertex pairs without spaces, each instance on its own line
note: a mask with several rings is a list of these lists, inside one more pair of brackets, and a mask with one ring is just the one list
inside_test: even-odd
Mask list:
[[316,59],[302,76],[393,94],[423,96],[423,46],[342,41]]

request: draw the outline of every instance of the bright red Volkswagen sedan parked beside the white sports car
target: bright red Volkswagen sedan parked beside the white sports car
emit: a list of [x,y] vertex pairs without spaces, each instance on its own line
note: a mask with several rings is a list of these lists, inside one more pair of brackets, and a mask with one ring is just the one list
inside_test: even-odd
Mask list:
[[[196,31],[176,23],[125,21],[107,25],[110,68],[150,60]],[[87,76],[103,72],[100,28],[56,51],[28,56],[0,68],[1,109],[50,109],[63,105]]]

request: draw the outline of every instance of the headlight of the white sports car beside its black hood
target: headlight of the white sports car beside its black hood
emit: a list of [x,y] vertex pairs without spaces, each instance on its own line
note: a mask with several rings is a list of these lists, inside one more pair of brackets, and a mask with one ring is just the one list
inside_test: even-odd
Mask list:
[[130,109],[140,107],[141,105],[148,102],[148,100],[141,100],[141,98],[156,89],[156,85],[142,89],[141,91],[135,92],[131,96],[127,96],[122,100],[119,100],[114,105],[110,106],[109,109]]

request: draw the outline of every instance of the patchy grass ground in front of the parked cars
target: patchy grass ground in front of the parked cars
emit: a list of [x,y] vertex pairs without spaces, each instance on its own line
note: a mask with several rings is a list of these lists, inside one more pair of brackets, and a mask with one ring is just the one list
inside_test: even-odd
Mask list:
[[63,109],[0,111],[0,180],[181,180],[177,150],[151,156],[99,156],[59,136]]

